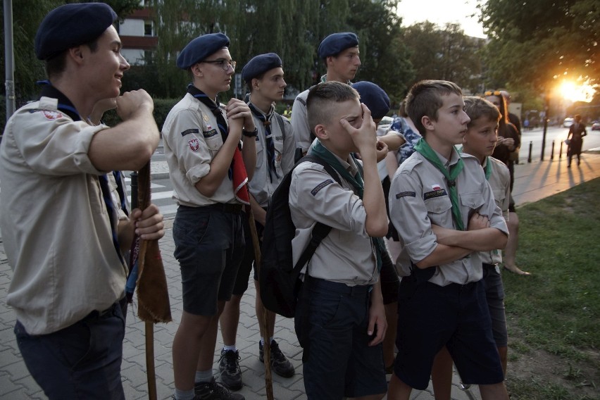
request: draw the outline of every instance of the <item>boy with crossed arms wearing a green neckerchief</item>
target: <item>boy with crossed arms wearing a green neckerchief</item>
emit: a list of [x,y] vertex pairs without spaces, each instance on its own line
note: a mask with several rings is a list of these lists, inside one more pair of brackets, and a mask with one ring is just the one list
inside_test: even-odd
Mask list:
[[402,251],[398,354],[388,399],[425,389],[447,346],[465,384],[482,399],[508,399],[492,337],[479,251],[506,245],[507,227],[477,158],[458,154],[469,117],[461,89],[425,80],[408,93],[408,115],[423,135],[389,190]]

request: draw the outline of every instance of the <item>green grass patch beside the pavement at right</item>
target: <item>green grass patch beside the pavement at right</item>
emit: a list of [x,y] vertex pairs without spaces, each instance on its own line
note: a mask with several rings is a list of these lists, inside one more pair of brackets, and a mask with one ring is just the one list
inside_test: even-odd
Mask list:
[[509,365],[512,399],[600,399],[600,178],[520,207],[518,215],[517,263],[533,275],[503,274],[509,360],[522,362],[535,350],[558,356],[560,365],[554,382],[536,375],[511,381]]

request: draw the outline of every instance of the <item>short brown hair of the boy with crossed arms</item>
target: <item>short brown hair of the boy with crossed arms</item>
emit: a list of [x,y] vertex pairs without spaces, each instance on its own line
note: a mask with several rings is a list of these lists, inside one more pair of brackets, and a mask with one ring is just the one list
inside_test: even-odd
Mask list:
[[444,105],[442,96],[449,94],[462,96],[463,91],[456,83],[447,80],[422,80],[411,87],[406,96],[406,112],[421,135],[425,136],[421,118],[426,115],[437,120],[437,111]]

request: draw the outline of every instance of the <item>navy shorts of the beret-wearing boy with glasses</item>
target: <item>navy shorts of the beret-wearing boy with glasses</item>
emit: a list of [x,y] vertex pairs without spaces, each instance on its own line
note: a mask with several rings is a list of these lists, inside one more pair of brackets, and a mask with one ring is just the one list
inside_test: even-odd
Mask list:
[[244,256],[242,208],[179,206],[173,223],[174,256],[181,270],[183,310],[217,315],[217,302],[231,299]]

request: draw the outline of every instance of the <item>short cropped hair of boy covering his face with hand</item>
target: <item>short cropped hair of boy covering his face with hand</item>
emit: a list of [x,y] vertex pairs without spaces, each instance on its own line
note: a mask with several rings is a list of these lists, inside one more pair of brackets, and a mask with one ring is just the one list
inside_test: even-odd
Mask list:
[[317,125],[327,125],[331,122],[333,108],[337,103],[358,99],[360,96],[356,89],[342,82],[331,81],[315,85],[306,97],[306,113],[311,131],[314,132]]

